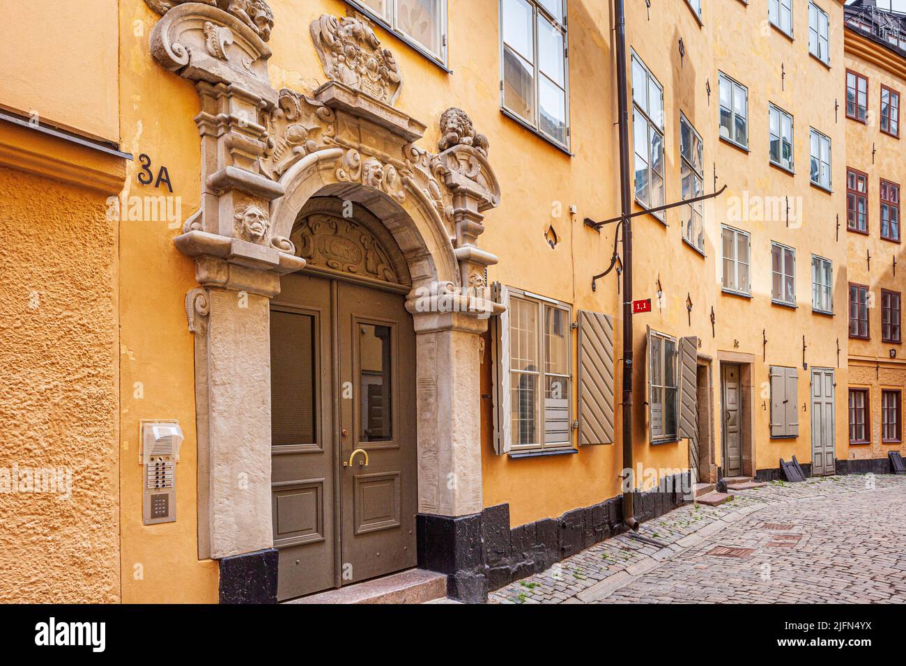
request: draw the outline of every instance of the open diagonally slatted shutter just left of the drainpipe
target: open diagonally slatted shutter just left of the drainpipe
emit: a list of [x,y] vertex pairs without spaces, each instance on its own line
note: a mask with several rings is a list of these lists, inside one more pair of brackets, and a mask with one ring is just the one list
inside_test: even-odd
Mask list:
[[613,317],[579,311],[579,446],[613,443]]

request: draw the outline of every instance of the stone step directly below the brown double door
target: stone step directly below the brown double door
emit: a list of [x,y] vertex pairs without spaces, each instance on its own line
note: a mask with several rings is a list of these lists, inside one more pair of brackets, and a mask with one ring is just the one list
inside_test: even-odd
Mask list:
[[286,603],[428,603],[447,598],[447,576],[409,569]]

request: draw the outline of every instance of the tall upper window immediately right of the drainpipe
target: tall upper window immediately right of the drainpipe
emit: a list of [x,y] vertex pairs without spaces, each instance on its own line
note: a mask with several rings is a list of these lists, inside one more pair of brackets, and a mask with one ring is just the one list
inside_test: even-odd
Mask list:
[[[664,89],[632,53],[632,144],[635,199],[645,208],[664,205]],[[661,220],[664,212],[655,213]]]

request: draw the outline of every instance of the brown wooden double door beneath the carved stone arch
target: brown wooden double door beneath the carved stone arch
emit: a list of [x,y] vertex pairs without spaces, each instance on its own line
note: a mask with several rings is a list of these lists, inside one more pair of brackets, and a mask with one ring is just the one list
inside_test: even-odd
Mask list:
[[414,566],[415,333],[403,296],[285,276],[271,378],[278,598]]

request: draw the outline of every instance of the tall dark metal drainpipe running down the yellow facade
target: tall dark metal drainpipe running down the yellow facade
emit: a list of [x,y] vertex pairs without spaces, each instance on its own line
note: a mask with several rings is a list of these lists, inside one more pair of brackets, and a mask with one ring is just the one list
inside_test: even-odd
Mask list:
[[[631,193],[629,181],[629,100],[626,80],[626,15],[623,0],[613,0],[613,15],[616,22],[617,49],[617,104],[620,114],[620,204],[622,215],[623,243],[623,369],[622,369],[622,445],[623,468],[629,470],[630,486],[623,492],[623,522],[633,532],[639,531],[639,521],[633,511],[632,476],[632,220]],[[616,232],[614,232],[616,233]]]

